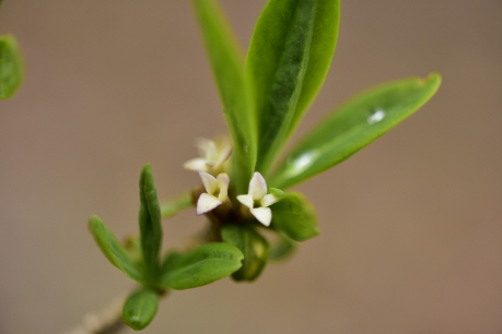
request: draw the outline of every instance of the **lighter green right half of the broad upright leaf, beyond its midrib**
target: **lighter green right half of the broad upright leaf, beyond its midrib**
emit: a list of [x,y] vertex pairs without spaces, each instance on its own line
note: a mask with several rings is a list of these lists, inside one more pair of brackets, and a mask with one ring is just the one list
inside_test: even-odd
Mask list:
[[287,136],[294,131],[326,79],[337,45],[339,24],[340,1],[317,0],[308,64]]

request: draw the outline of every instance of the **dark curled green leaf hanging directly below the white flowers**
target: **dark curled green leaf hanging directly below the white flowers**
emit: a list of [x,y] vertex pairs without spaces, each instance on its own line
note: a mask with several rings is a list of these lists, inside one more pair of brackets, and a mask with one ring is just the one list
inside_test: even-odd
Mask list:
[[255,281],[265,269],[270,247],[253,227],[225,225],[221,229],[223,241],[235,246],[244,254],[243,266],[232,274],[235,281]]

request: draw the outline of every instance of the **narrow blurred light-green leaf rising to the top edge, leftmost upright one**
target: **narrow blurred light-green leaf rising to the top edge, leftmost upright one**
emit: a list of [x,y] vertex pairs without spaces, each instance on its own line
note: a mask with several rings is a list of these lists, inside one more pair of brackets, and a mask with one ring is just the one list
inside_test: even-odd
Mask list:
[[244,57],[214,0],[192,0],[200,32],[233,139],[233,186],[243,193],[256,163],[257,128],[244,80]]

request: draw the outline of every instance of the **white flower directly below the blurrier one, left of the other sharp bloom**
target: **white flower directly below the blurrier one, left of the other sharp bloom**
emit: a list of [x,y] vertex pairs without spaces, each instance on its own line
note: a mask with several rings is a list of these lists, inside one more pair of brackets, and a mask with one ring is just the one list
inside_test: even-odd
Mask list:
[[199,176],[202,179],[203,188],[206,188],[206,192],[201,193],[197,201],[197,215],[202,215],[229,199],[230,178],[224,172],[215,178],[205,171],[200,171]]

